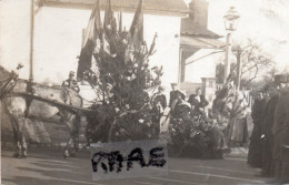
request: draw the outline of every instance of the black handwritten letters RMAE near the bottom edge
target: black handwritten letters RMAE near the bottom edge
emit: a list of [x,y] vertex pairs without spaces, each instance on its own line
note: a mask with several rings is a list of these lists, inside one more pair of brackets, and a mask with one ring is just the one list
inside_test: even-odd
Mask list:
[[[147,161],[147,162],[146,162]],[[99,172],[99,167],[104,173],[117,172],[120,173],[126,165],[126,169],[133,168],[133,162],[140,167],[162,167],[167,161],[165,158],[163,147],[153,147],[149,152],[149,158],[146,160],[143,151],[140,147],[133,148],[128,156],[123,156],[120,151],[113,152],[97,152],[92,155],[91,164],[92,171]]]

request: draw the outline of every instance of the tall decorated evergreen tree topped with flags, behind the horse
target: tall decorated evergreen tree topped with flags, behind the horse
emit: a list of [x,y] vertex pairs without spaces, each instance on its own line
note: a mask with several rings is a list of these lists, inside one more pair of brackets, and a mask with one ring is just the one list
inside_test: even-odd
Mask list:
[[80,53],[78,80],[88,81],[100,94],[88,115],[88,137],[92,142],[157,138],[150,95],[161,84],[162,66],[151,68],[156,39],[148,49],[143,40],[143,1],[140,0],[129,31],[119,28],[107,0],[103,24],[99,0],[92,10]]

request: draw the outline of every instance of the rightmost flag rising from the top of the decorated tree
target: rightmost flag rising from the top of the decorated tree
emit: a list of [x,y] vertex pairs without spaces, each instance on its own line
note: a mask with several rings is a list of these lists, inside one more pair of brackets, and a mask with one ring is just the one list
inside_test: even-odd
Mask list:
[[143,43],[143,0],[139,2],[129,32],[133,45],[139,48]]

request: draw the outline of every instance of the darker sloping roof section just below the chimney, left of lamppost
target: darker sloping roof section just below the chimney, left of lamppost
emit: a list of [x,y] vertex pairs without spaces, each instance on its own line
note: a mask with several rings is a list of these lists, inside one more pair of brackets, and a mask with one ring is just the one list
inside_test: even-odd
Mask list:
[[181,19],[181,34],[219,39],[221,35],[197,24],[191,18]]

